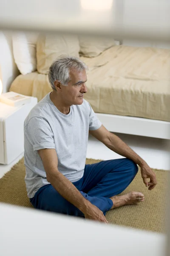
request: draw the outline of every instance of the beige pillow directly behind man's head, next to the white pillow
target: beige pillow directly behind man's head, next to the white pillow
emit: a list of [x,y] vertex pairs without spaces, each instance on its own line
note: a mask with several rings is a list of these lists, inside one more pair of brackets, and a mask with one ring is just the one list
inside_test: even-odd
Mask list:
[[79,40],[74,35],[40,35],[37,41],[37,70],[47,74],[52,62],[62,54],[79,57]]

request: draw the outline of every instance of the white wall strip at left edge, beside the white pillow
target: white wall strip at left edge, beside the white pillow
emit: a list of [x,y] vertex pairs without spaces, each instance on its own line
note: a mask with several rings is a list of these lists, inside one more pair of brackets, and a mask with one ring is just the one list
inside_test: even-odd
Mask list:
[[20,74],[12,55],[12,32],[0,31],[0,66],[3,93],[9,90],[11,82]]

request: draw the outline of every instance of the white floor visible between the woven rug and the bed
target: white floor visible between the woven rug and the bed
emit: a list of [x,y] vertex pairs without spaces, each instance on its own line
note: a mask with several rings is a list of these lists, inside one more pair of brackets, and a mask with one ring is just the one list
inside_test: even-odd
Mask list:
[[[167,140],[128,134],[116,135],[139,154],[151,168],[170,170],[170,143]],[[9,165],[0,164],[0,178],[22,157],[23,154]],[[121,157],[91,135],[89,136],[87,158],[109,160]]]

